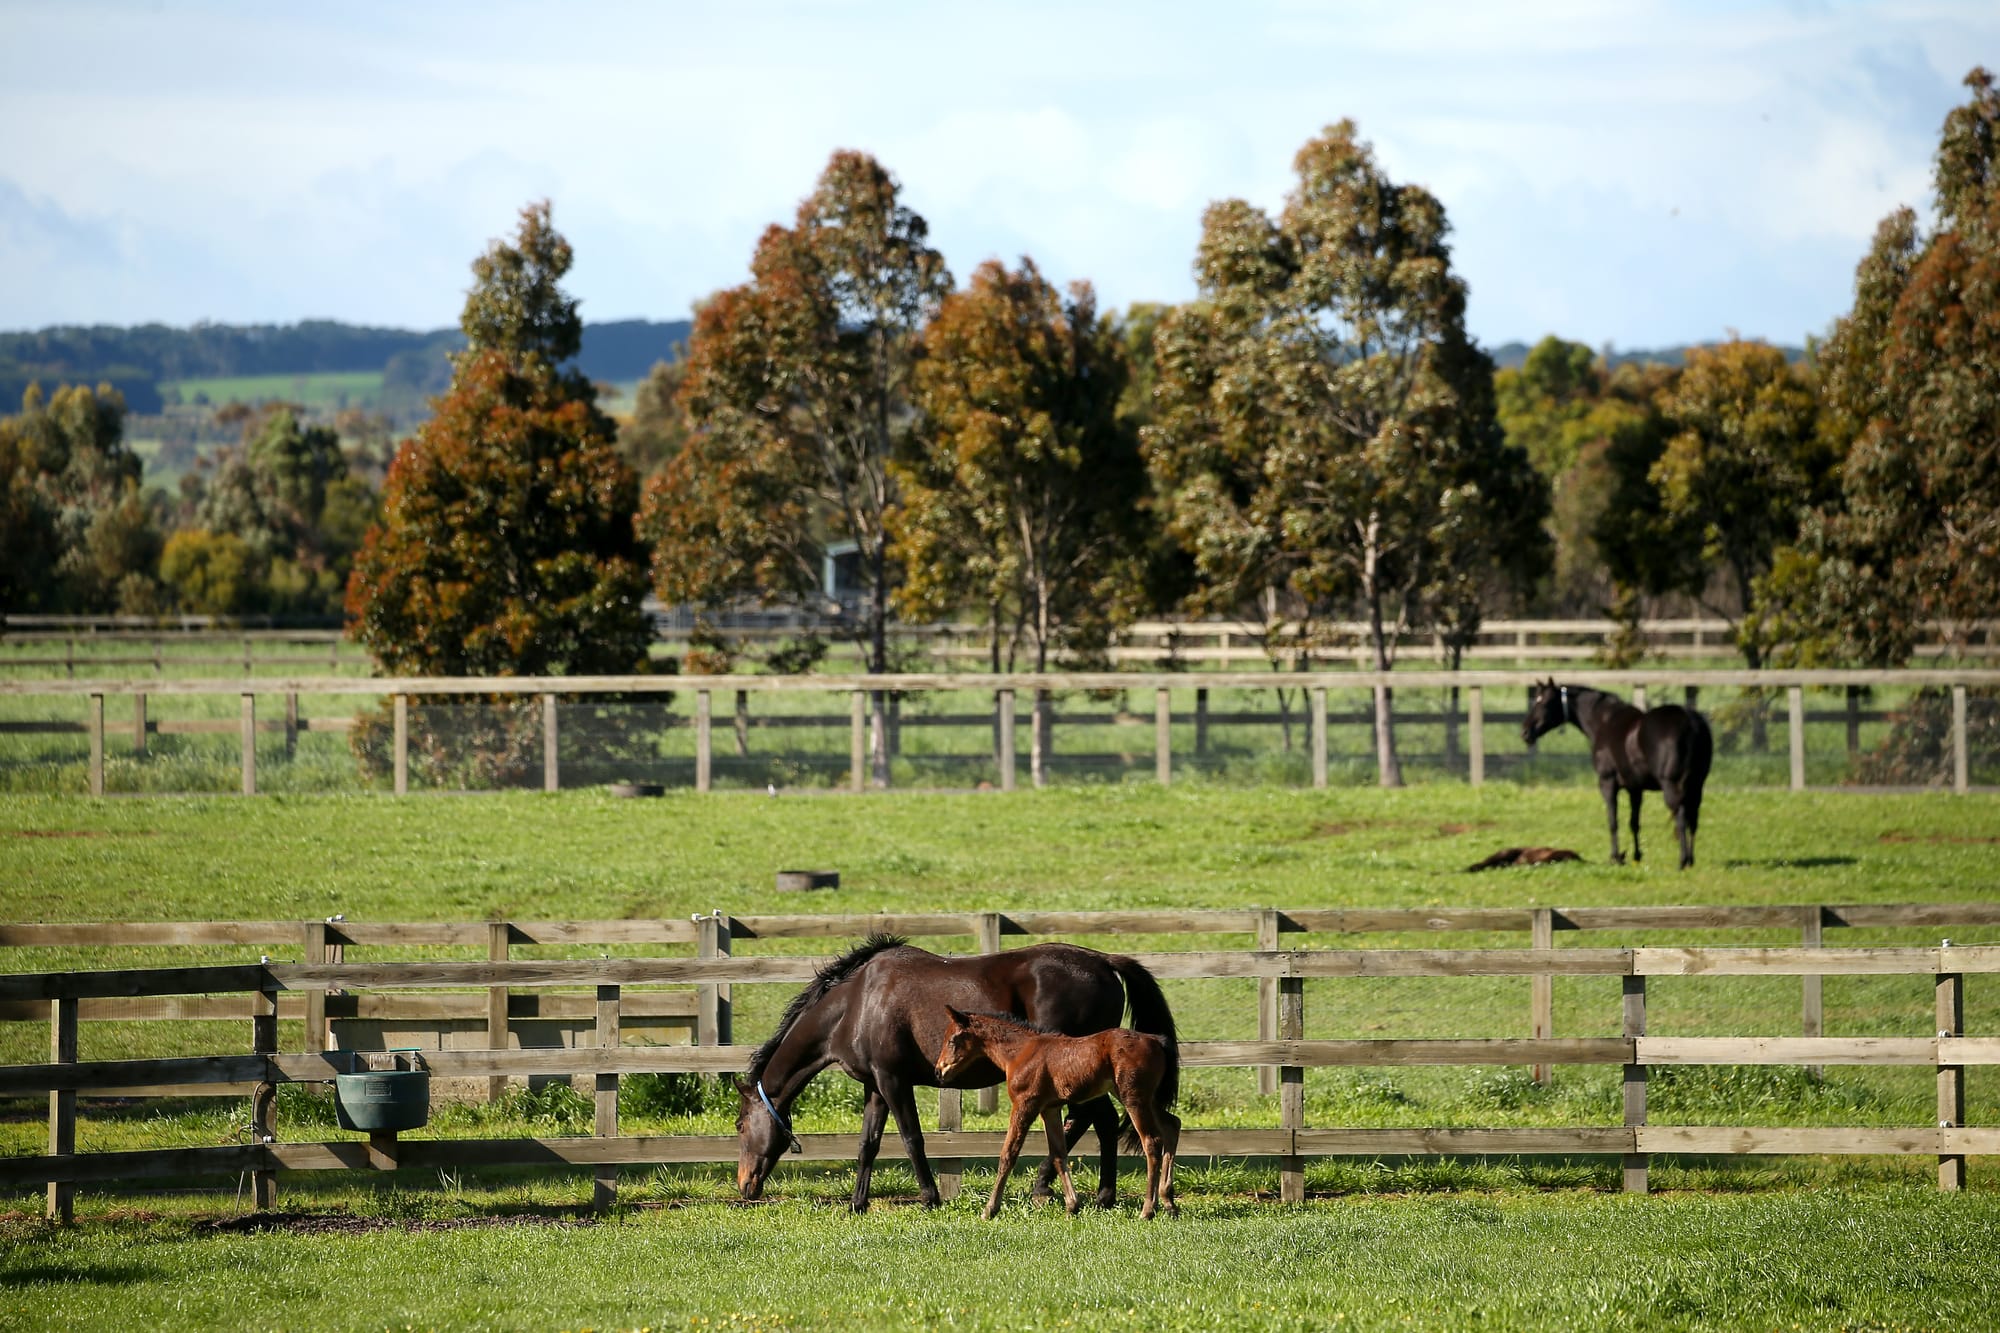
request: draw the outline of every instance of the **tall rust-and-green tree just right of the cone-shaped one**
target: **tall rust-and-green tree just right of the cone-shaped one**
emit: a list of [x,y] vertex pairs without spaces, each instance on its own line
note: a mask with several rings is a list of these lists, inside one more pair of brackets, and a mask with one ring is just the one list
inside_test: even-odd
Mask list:
[[[646,486],[654,586],[670,602],[790,600],[852,540],[868,671],[888,671],[900,570],[890,460],[912,446],[916,336],[952,288],[930,228],[890,172],[836,152],[792,226],[772,226],[750,282],[700,308],[680,402],[694,434]],[[888,783],[886,699],[872,703],[876,785]]]

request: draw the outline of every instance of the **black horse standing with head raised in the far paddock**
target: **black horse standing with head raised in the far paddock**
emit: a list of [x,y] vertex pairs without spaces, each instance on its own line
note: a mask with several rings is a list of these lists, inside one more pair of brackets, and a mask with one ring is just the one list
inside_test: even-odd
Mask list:
[[1702,823],[1702,785],[1714,759],[1708,719],[1694,709],[1666,705],[1640,713],[1616,695],[1586,685],[1556,685],[1554,679],[1536,685],[1528,697],[1528,717],[1520,739],[1534,747],[1536,739],[1568,725],[1590,741],[1590,763],[1598,771],[1598,791],[1604,793],[1604,813],[1612,827],[1612,861],[1624,863],[1618,851],[1618,791],[1632,797],[1632,861],[1638,851],[1640,793],[1656,791],[1674,817],[1680,837],[1680,869],[1694,865],[1694,831]]

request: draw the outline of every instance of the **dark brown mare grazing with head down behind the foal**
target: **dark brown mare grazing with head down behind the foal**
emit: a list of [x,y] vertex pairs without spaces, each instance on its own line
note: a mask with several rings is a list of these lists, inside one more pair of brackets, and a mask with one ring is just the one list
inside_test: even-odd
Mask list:
[[[838,1065],[866,1089],[862,1151],[854,1179],[854,1211],[868,1207],[868,1177],[882,1147],[890,1113],[910,1153],[926,1207],[938,1203],[938,1181],[924,1157],[924,1131],[916,1123],[918,1087],[990,1087],[1000,1081],[992,1061],[972,1061],[938,1081],[932,1063],[944,1043],[944,1007],[1004,1013],[1052,1033],[1100,1033],[1118,1027],[1126,1003],[1132,1027],[1166,1041],[1170,1071],[1164,1097],[1172,1101],[1180,1071],[1174,1015],[1160,983],[1138,961],[1078,945],[1032,945],[1004,953],[944,959],[912,949],[892,935],[874,935],[820,969],[778,1021],[778,1031],[750,1057],[736,1111],[736,1189],[744,1199],[764,1191],[770,1169],[792,1135],[792,1103],[814,1075]],[[1102,1093],[1070,1107],[1066,1147],[1086,1129],[1098,1131],[1098,1205],[1118,1201],[1118,1111]],[[1046,1189],[1054,1163],[1042,1169]]]

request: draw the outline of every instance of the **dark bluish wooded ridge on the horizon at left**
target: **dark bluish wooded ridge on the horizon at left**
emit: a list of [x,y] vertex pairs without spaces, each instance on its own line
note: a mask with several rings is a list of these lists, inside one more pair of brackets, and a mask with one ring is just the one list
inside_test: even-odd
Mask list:
[[[636,380],[654,362],[670,360],[688,330],[688,320],[584,324],[576,364],[594,380]],[[392,382],[430,384],[440,370],[448,378],[444,356],[462,342],[456,328],[420,332],[336,320],[0,332],[0,412],[20,410],[34,380],[44,388],[110,380],[140,414],[162,408],[158,386],[172,380],[384,370]]]

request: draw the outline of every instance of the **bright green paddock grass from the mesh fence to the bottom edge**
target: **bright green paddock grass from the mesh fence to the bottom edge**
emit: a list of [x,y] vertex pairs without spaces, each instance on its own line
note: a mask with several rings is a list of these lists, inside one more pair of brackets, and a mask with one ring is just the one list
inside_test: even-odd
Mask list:
[[[1478,907],[1862,903],[2000,897],[2000,799],[1712,789],[1700,865],[1604,865],[1596,795],[1578,787],[1432,783],[1398,793],[1192,783],[1042,793],[298,795],[88,803],[0,797],[0,919],[588,919],[726,909],[924,911],[1110,907]],[[1506,845],[1578,849],[1584,865],[1466,875]],[[842,887],[802,903],[772,873],[814,865]],[[1116,949],[1198,941],[1118,937]],[[1214,947],[1248,941],[1220,937]],[[1520,937],[1302,939],[1312,947],[1520,945]],[[1558,937],[1570,945],[1790,943],[1754,933]],[[1830,931],[1830,945],[1936,943],[1934,933]],[[1964,939],[1962,943],[1974,943]],[[738,953],[838,949],[744,941]],[[934,941],[970,947],[970,941]],[[366,951],[350,949],[350,957]],[[450,951],[432,951],[450,955]],[[522,951],[552,957],[560,951]],[[588,951],[598,953],[598,951]],[[464,957],[464,955],[452,955]],[[240,951],[12,951],[10,971],[236,959]],[[1254,1035],[1246,983],[1170,983],[1190,1037]],[[1524,1035],[1526,981],[1312,983],[1308,1037]],[[736,987],[738,1041],[768,1029],[788,987]],[[1604,991],[1604,993],[1598,993]],[[1558,983],[1560,1035],[1616,1031],[1616,985]],[[1830,979],[1828,1031],[1920,1035],[1926,979]],[[1790,1033],[1796,981],[1666,979],[1660,1035]],[[4,1059],[42,1059],[46,1027],[0,1025]],[[84,1059],[186,1049],[210,1025],[86,1025]],[[112,1031],[116,1029],[116,1031]],[[1246,1031],[1250,1029],[1250,1031]],[[1968,1031],[2000,1031],[2000,991],[1970,987]],[[226,1049],[242,1033],[220,1035]],[[284,1035],[286,1041],[292,1033]],[[220,1049],[220,1047],[218,1047]],[[1190,1071],[1194,1073],[1194,1071]],[[2000,1117],[1974,1071],[1970,1121]],[[1616,1123],[1616,1071],[1562,1069],[1538,1089],[1506,1069],[1308,1075],[1308,1125]],[[634,1097],[626,1133],[728,1133],[732,1099]],[[826,1075],[802,1129],[852,1131],[854,1085]],[[426,1133],[580,1133],[582,1097],[448,1107]],[[1248,1071],[1198,1071],[1190,1125],[1276,1123]],[[1928,1071],[1672,1071],[1658,1123],[1926,1123]],[[324,1101],[282,1099],[286,1139],[340,1137]],[[926,1105],[928,1115],[928,1105]],[[968,1115],[968,1129],[996,1129]],[[230,1101],[86,1109],[82,1147],[224,1143]],[[0,1117],[0,1151],[40,1151],[42,1113]],[[1088,1169],[1088,1167],[1086,1167]],[[206,1193],[86,1189],[82,1225],[46,1231],[34,1195],[0,1219],[0,1323],[74,1327],[1978,1327],[1994,1317],[1990,1235],[2000,1175],[1938,1197],[1924,1159],[1656,1159],[1656,1197],[1624,1199],[1616,1163],[1354,1161],[1308,1165],[1310,1201],[1280,1207],[1272,1163],[1188,1163],[1186,1215],[1066,1219],[1026,1185],[992,1225],[968,1197],[926,1215],[886,1199],[852,1219],[852,1167],[786,1167],[776,1203],[738,1207],[722,1169],[634,1169],[620,1211],[580,1217],[588,1179],[490,1171],[394,1179],[300,1175],[280,1205],[302,1229],[240,1231],[232,1183]],[[1134,1183],[1126,1179],[1130,1201]],[[492,1225],[504,1219],[508,1225]],[[1030,1273],[1030,1275],[1024,1275]],[[1032,1275],[1040,1273],[1040,1275]]]

